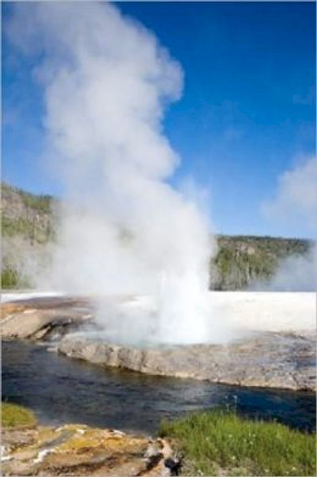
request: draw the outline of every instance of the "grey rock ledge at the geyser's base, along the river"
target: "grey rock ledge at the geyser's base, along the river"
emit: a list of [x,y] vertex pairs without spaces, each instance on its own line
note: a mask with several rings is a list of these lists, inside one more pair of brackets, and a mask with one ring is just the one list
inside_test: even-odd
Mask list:
[[308,332],[261,333],[227,345],[142,349],[68,336],[57,350],[70,358],[152,375],[313,391],[315,343]]

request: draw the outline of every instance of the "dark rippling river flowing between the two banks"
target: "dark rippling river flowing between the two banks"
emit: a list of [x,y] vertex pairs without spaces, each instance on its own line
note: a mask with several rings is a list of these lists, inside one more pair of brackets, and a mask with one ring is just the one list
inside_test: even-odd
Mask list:
[[315,430],[316,418],[312,393],[106,369],[19,341],[2,343],[2,400],[32,408],[45,423],[81,422],[150,433],[162,417],[218,405],[309,431]]

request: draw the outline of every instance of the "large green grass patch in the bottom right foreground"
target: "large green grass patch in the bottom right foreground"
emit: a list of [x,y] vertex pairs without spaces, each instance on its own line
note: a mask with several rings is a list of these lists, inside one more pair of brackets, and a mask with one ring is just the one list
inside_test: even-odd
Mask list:
[[222,410],[162,421],[184,455],[183,475],[315,476],[316,435]]

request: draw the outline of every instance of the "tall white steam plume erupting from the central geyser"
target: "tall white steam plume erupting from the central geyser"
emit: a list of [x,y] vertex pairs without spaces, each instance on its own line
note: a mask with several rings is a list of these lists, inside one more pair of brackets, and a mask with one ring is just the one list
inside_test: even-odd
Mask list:
[[[48,150],[68,199],[48,285],[98,297],[115,339],[216,340],[209,225],[166,182],[180,159],[162,118],[181,95],[180,65],[107,3],[16,4],[10,35],[38,60]],[[140,294],[154,298],[119,310],[101,298]]]

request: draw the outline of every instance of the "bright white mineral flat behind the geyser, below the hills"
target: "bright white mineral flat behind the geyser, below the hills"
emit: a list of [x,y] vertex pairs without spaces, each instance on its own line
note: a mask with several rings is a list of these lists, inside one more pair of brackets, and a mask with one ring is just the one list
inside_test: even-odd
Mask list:
[[[62,296],[54,292],[2,293],[1,301]],[[316,329],[313,292],[210,292],[211,314],[241,330],[285,331]],[[140,297],[126,305],[149,306]]]

